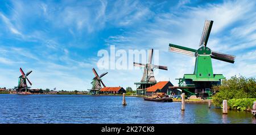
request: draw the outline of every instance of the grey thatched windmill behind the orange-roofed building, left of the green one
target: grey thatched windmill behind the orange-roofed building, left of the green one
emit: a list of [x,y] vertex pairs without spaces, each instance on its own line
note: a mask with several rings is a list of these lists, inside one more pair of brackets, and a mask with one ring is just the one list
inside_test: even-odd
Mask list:
[[137,94],[144,95],[146,94],[146,88],[156,84],[155,76],[154,76],[154,68],[168,70],[166,66],[158,66],[152,64],[152,56],[153,56],[153,49],[148,50],[148,59],[146,64],[136,63],[134,62],[133,65],[135,67],[141,67],[143,69],[143,76],[141,82],[135,82],[134,84],[137,85]]

